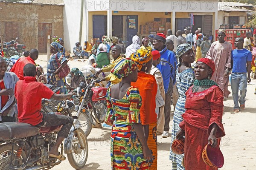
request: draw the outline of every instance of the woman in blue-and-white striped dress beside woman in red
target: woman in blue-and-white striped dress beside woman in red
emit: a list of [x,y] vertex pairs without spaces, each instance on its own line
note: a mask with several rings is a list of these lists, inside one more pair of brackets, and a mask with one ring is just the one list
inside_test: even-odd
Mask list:
[[[172,142],[176,137],[177,131],[180,129],[179,124],[183,120],[181,115],[185,113],[186,91],[194,82],[194,71],[191,68],[191,63],[195,60],[195,53],[189,44],[181,44],[177,47],[177,58],[179,65],[176,70],[177,89],[180,94],[177,101],[172,124]],[[172,170],[184,170],[182,166],[183,154],[177,155],[170,150],[169,159],[172,161]]]

